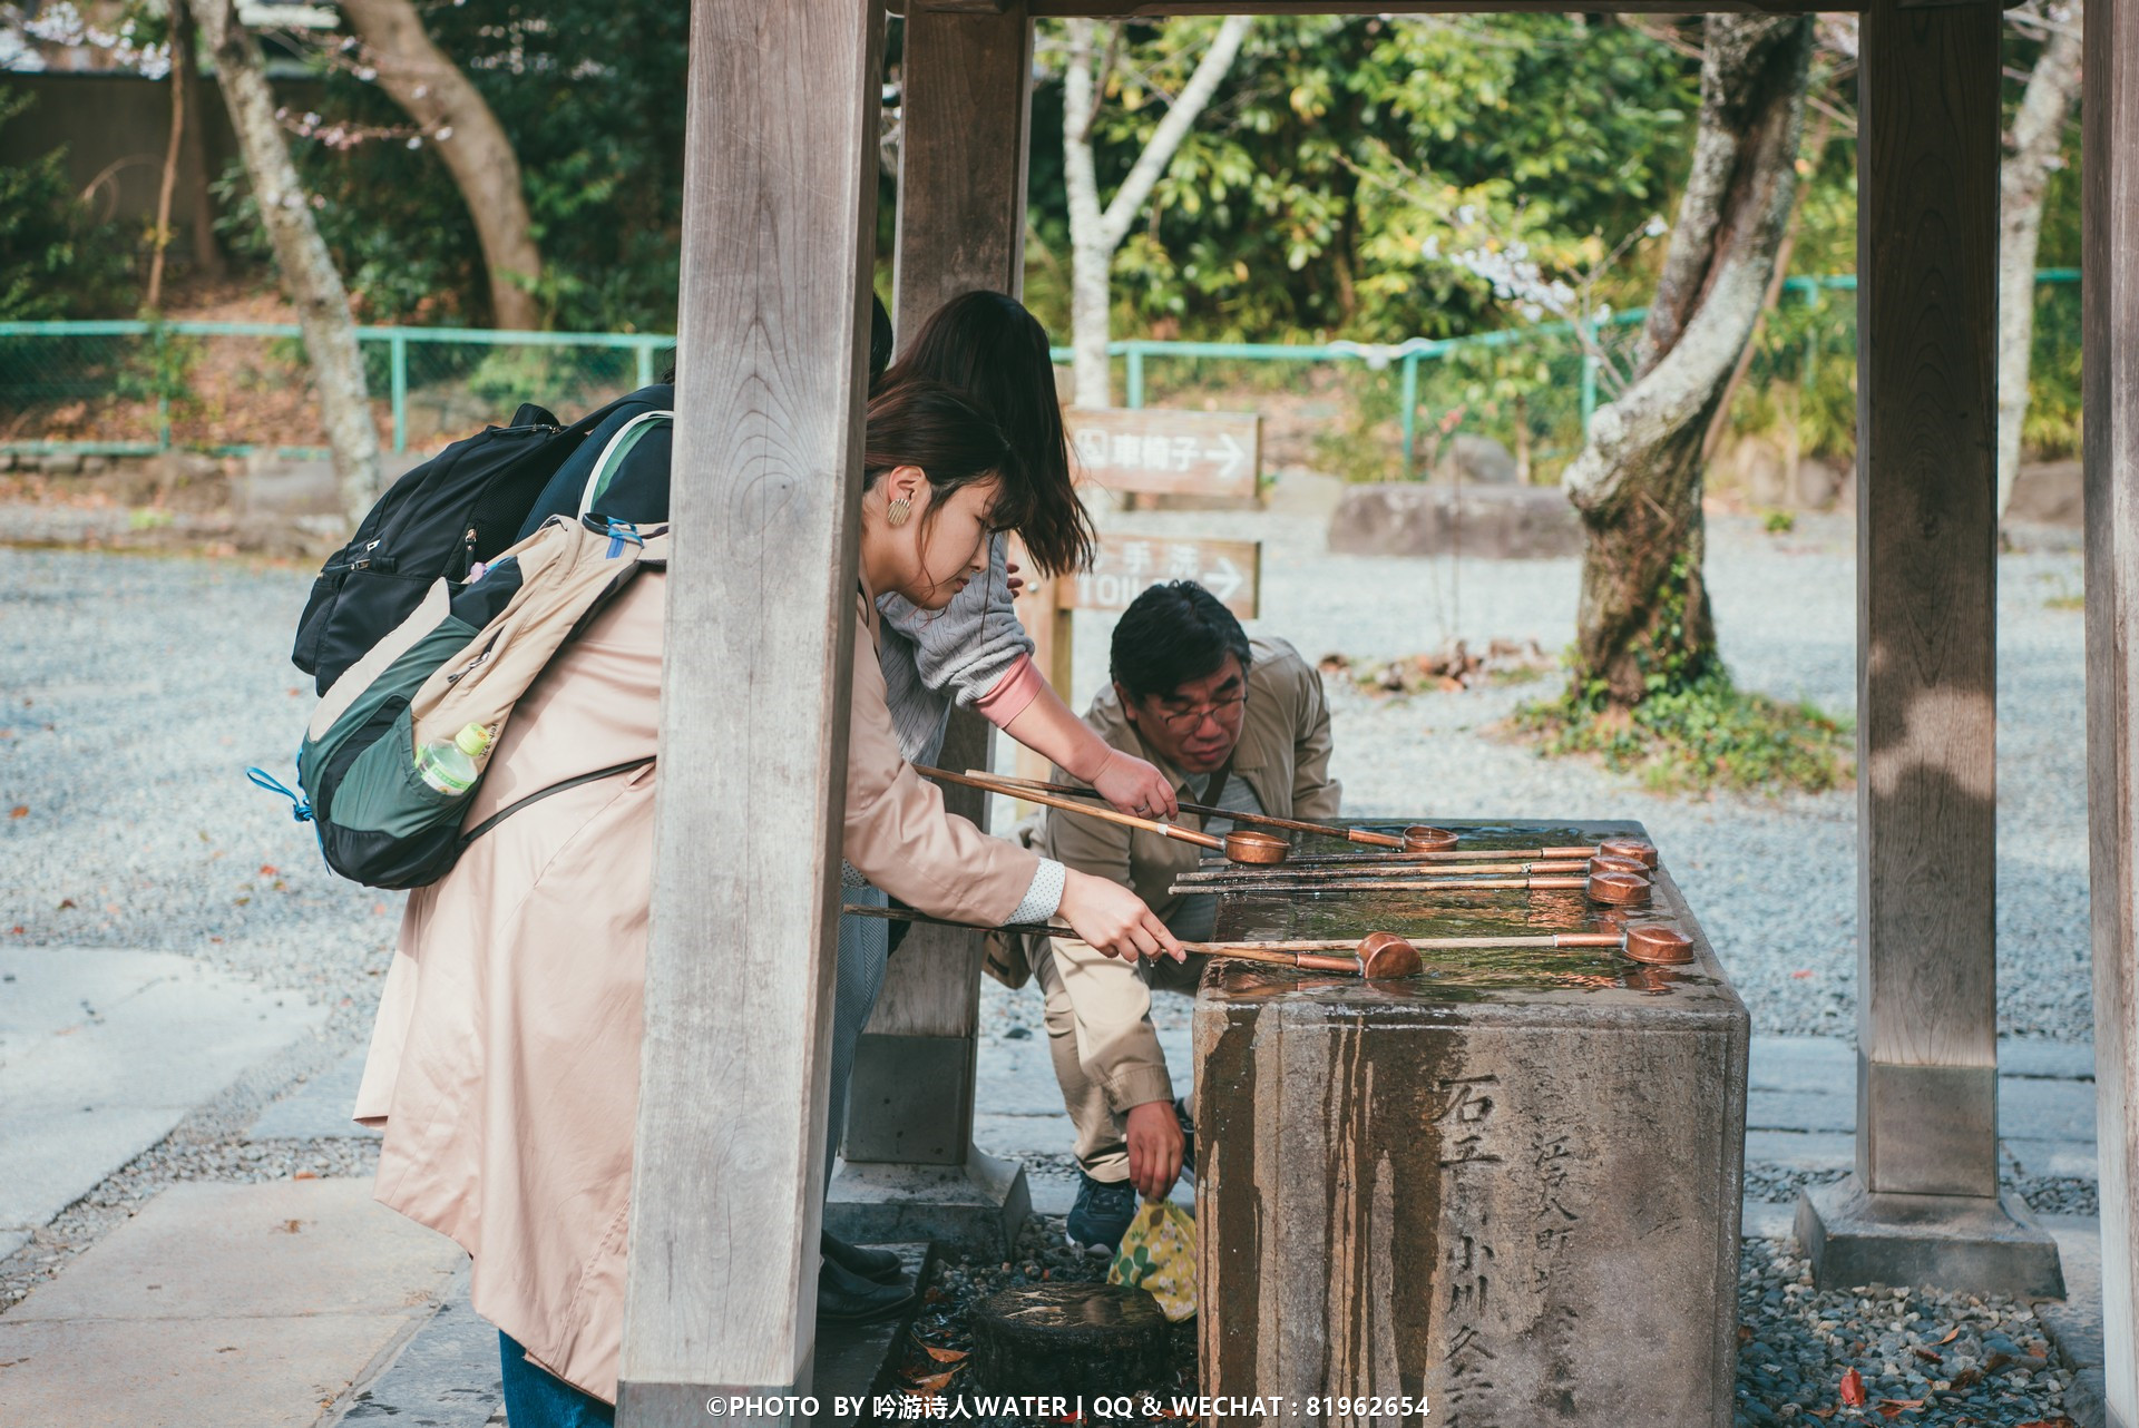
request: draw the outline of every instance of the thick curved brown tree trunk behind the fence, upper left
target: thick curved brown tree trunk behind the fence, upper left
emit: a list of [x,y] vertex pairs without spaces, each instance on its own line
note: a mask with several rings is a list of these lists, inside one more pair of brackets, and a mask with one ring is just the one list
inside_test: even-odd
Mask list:
[[430,41],[409,0],[342,0],[342,13],[370,49],[379,86],[424,126],[468,205],[490,274],[490,319],[498,327],[537,327],[541,250],[520,188],[520,156],[498,118]]

